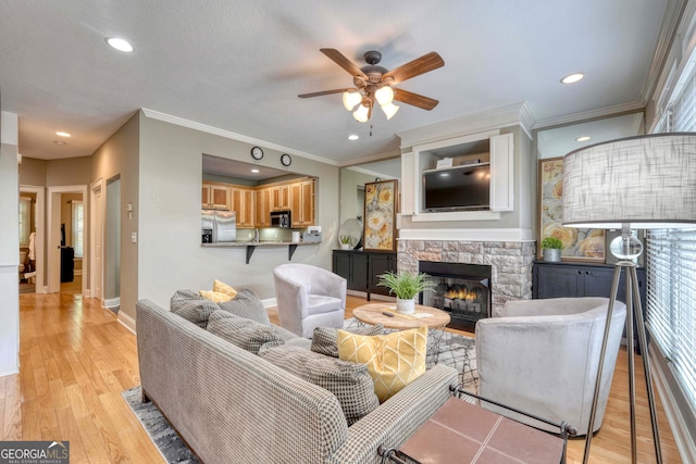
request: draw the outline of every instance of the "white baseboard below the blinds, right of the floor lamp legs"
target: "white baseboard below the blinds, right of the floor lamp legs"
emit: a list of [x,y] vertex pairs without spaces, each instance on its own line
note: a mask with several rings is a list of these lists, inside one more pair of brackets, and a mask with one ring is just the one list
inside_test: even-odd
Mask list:
[[696,442],[694,442],[694,437],[688,432],[688,427],[669,388],[667,377],[662,372],[652,343],[649,343],[648,353],[650,356],[650,374],[652,374],[655,389],[660,396],[660,400],[662,400],[662,409],[664,410],[667,422],[672,429],[672,436],[674,437],[674,443],[676,444],[679,454],[685,463],[694,462],[694,457],[696,457]]

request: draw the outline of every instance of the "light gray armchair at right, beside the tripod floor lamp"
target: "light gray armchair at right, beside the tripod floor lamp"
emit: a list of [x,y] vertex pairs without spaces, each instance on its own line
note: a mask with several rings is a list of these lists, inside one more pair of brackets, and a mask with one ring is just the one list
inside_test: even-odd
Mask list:
[[[608,298],[555,298],[506,303],[500,317],[476,323],[481,396],[587,434]],[[617,301],[607,346],[595,430],[601,426],[626,308]],[[550,426],[498,411],[546,430]]]

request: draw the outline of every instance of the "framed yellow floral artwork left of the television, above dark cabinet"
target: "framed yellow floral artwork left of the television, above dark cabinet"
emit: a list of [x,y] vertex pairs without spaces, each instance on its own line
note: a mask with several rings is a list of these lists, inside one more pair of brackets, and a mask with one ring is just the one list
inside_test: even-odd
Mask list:
[[362,243],[365,251],[396,250],[398,180],[365,184]]

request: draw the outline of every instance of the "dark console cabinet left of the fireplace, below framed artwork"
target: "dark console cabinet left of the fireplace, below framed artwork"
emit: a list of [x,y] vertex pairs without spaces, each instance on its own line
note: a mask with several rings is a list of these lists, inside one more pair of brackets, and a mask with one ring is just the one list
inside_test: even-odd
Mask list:
[[364,291],[370,301],[371,293],[389,294],[380,287],[380,274],[396,272],[396,253],[358,250],[334,250],[333,272],[348,280],[348,289]]

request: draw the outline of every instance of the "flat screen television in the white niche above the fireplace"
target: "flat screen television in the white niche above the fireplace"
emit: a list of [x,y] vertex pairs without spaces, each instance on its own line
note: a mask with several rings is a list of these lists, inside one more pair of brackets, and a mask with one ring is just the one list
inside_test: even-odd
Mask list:
[[490,164],[423,172],[426,212],[490,209]]

